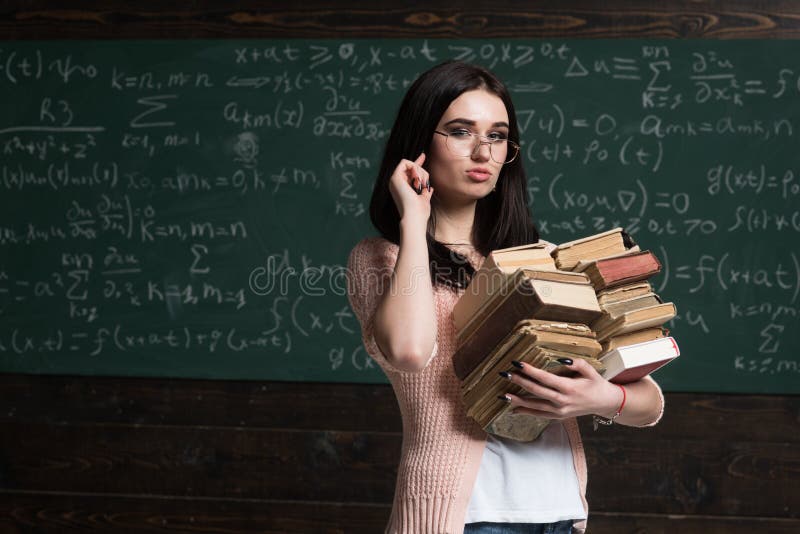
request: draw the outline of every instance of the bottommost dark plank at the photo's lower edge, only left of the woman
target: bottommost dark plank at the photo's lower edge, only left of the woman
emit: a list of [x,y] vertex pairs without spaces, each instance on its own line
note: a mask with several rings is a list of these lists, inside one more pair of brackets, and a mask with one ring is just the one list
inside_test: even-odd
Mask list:
[[388,505],[0,493],[0,534],[381,532]]

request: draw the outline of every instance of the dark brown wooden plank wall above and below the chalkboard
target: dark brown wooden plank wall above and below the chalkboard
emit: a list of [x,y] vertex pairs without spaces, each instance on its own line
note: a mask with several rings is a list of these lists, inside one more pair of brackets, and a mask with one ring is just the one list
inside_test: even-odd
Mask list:
[[[233,4],[6,0],[0,39],[800,37],[789,0]],[[799,428],[798,396],[708,394],[584,424],[590,532],[799,532]],[[0,534],[380,532],[400,430],[384,385],[0,374]]]

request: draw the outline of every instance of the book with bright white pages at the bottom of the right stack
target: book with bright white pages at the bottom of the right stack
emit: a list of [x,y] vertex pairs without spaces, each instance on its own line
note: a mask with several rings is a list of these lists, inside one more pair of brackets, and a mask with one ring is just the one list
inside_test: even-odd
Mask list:
[[600,361],[606,366],[603,376],[616,384],[627,384],[660,369],[680,355],[678,344],[672,337],[645,341],[627,347],[618,347],[603,355]]

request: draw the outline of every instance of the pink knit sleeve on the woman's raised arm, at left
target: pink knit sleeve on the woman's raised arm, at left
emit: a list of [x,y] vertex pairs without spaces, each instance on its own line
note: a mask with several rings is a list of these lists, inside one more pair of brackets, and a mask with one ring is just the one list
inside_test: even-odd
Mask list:
[[[397,263],[399,247],[383,238],[366,238],[350,252],[347,261],[347,296],[350,306],[361,324],[364,348],[384,369],[406,372],[394,367],[375,342],[375,311],[386,291]],[[436,356],[438,343],[434,344],[428,363]]]

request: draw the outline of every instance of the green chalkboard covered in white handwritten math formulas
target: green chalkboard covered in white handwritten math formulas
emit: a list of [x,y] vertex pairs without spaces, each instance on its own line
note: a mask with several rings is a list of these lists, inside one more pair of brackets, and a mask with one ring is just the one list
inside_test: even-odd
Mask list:
[[663,262],[669,391],[798,393],[800,44],[230,40],[0,48],[0,369],[384,381],[345,296],[399,101],[513,95],[544,238]]

